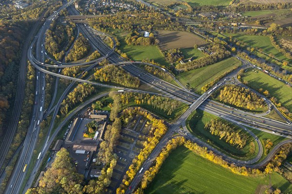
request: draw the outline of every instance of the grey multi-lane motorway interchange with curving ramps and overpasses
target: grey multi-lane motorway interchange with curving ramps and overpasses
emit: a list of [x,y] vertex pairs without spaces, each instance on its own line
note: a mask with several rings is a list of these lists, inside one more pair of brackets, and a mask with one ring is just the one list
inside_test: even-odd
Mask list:
[[[12,173],[12,176],[9,180],[8,186],[6,188],[5,193],[7,194],[19,194],[25,193],[25,191],[32,186],[33,180],[36,177],[37,171],[39,170],[39,167],[41,165],[41,162],[43,160],[43,157],[45,153],[49,150],[49,146],[53,142],[55,136],[57,135],[58,131],[62,129],[62,126],[65,125],[65,123],[78,111],[80,111],[82,108],[84,108],[87,104],[91,103],[92,101],[98,99],[99,97],[106,96],[108,93],[99,95],[97,97],[93,97],[90,100],[86,101],[83,103],[80,107],[78,107],[73,113],[71,113],[52,133],[53,127],[54,127],[54,122],[55,122],[55,117],[58,113],[59,107],[63,99],[67,96],[67,94],[73,89],[74,83],[76,81],[78,82],[87,82],[91,83],[94,85],[98,86],[103,86],[103,87],[111,87],[111,88],[117,88],[117,89],[122,89],[125,92],[145,92],[145,91],[140,91],[140,90],[132,90],[129,88],[125,87],[117,87],[117,86],[112,86],[109,84],[103,84],[103,83],[96,83],[93,81],[88,81],[87,79],[81,79],[82,74],[77,76],[76,78],[68,77],[68,76],[63,76],[59,73],[53,73],[51,71],[46,70],[46,67],[52,67],[52,68],[64,68],[64,67],[70,67],[70,66],[81,66],[81,65],[87,65],[88,67],[84,70],[84,72],[91,70],[93,67],[95,67],[99,62],[101,62],[104,59],[108,59],[112,65],[120,65],[123,67],[126,71],[128,71],[130,74],[133,76],[136,76],[140,79],[140,81],[146,83],[150,87],[155,88],[156,90],[160,91],[164,96],[166,97],[171,97],[176,100],[180,100],[184,103],[187,103],[190,105],[189,109],[183,113],[183,115],[177,119],[177,121],[173,124],[170,125],[168,131],[164,135],[163,139],[160,141],[160,143],[155,147],[155,149],[152,151],[152,153],[149,155],[149,160],[146,160],[146,162],[142,166],[141,173],[138,173],[136,177],[133,179],[131,184],[129,185],[132,189],[134,189],[139,181],[142,178],[143,172],[145,172],[151,163],[155,160],[156,156],[159,154],[163,146],[166,145],[166,142],[171,138],[172,134],[174,132],[178,132],[181,135],[185,136],[187,139],[190,139],[196,143],[198,143],[201,146],[205,146],[208,149],[214,151],[218,155],[221,155],[226,161],[228,162],[233,162],[237,165],[245,165],[247,167],[251,168],[256,168],[261,165],[264,165],[266,162],[268,162],[276,152],[277,148],[282,146],[285,143],[292,142],[292,140],[286,140],[285,142],[282,142],[280,145],[275,146],[273,151],[269,153],[269,155],[266,157],[266,159],[262,162],[259,162],[257,164],[253,164],[259,160],[259,158],[262,155],[262,150],[259,150],[258,155],[256,156],[255,159],[251,161],[240,161],[233,159],[229,156],[226,156],[225,154],[221,153],[218,151],[216,148],[213,148],[206,143],[202,142],[198,138],[194,137],[186,128],[185,122],[187,117],[194,112],[197,108],[206,111],[208,113],[212,113],[214,115],[217,115],[221,118],[224,118],[228,121],[231,121],[238,126],[245,128],[245,127],[252,127],[255,129],[263,130],[265,132],[270,132],[273,134],[281,135],[284,137],[288,137],[292,139],[292,126],[289,124],[290,121],[287,120],[288,123],[283,123],[279,121],[275,121],[269,118],[262,117],[265,114],[268,114],[271,111],[271,108],[276,109],[275,106],[273,105],[272,102],[269,100],[266,100],[266,102],[269,105],[269,110],[267,113],[261,113],[261,114],[254,114],[254,113],[247,113],[244,111],[240,111],[237,109],[233,109],[231,107],[227,107],[222,105],[221,103],[209,100],[208,97],[218,89],[219,86],[222,86],[224,84],[228,84],[233,80],[233,77],[237,75],[237,72],[241,68],[247,68],[250,66],[250,64],[243,59],[240,59],[242,62],[242,66],[239,67],[237,70],[234,72],[228,74],[226,77],[221,79],[216,85],[213,86],[210,90],[208,90],[206,93],[203,95],[197,95],[188,89],[184,88],[184,86],[179,83],[172,74],[170,74],[167,70],[165,70],[166,73],[170,74],[171,77],[175,79],[175,81],[178,82],[178,84],[181,87],[178,87],[176,85],[173,85],[171,83],[168,83],[162,79],[159,79],[146,71],[137,68],[135,64],[141,64],[142,62],[127,62],[125,59],[123,59],[121,56],[119,56],[116,52],[114,52],[114,49],[116,48],[115,41],[114,39],[109,35],[105,34],[103,32],[97,32],[91,27],[89,27],[86,24],[78,24],[77,28],[78,30],[89,40],[91,46],[93,49],[98,50],[103,57],[100,57],[99,59],[96,59],[91,62],[85,62],[81,64],[71,64],[71,63],[61,63],[61,62],[56,62],[55,60],[51,59],[50,56],[47,55],[45,52],[45,49],[43,47],[44,45],[44,40],[45,40],[45,32],[47,29],[49,29],[51,22],[53,19],[55,19],[59,13],[60,10],[68,7],[68,11],[71,15],[79,15],[78,11],[75,10],[72,6],[69,6],[72,4],[73,1],[70,1],[69,3],[64,4],[62,7],[60,7],[54,14],[49,16],[44,24],[40,27],[39,31],[37,32],[37,35],[33,39],[31,45],[28,45],[27,48],[27,53],[25,53],[28,57],[28,60],[31,62],[32,65],[37,69],[37,83],[36,83],[36,93],[35,93],[35,105],[33,107],[33,114],[32,114],[32,119],[30,122],[30,127],[27,132],[27,136],[25,138],[25,141],[23,143],[23,148],[20,152],[20,160],[18,160],[17,164],[15,165],[15,169]],[[102,35],[108,35],[109,37],[112,38],[114,42],[113,48],[109,48],[105,43],[102,42],[100,38],[96,36],[96,34],[102,34]],[[35,54],[33,54],[33,51],[35,51]],[[45,59],[51,59],[55,64],[57,65],[49,65],[49,64],[44,64]],[[145,64],[145,63],[144,63]],[[152,65],[152,64],[147,64],[147,65]],[[156,66],[156,65],[154,65]],[[161,68],[156,66],[157,68]],[[100,68],[100,67],[98,67]],[[59,71],[60,72],[60,71]],[[53,107],[52,101],[51,105],[47,110],[44,110],[44,102],[45,102],[45,74],[50,74],[52,76],[55,76],[57,78],[64,78],[64,79],[70,79],[72,80],[72,83],[66,88],[66,90],[63,92],[62,96],[58,99],[57,104]],[[56,81],[56,86],[58,84],[58,79]],[[56,93],[56,92],[55,92]],[[151,93],[155,94],[155,93]],[[55,95],[53,99],[55,99]],[[157,94],[161,95],[161,94]],[[39,155],[39,160],[37,160],[36,163],[32,163],[32,156],[34,153],[34,149],[37,143],[37,137],[40,131],[40,126],[39,123],[49,114],[53,113],[53,119],[52,122],[50,123],[49,126],[49,132],[46,136],[46,141],[45,144],[42,147],[41,154]],[[183,127],[183,129],[180,129],[180,126]],[[252,136],[256,139],[256,142],[258,144],[259,141],[257,137],[248,130],[252,134]],[[261,146],[259,146],[261,147]],[[33,166],[32,174],[29,176],[28,179],[25,179],[27,176],[27,171],[23,170],[24,166],[27,165],[27,168],[29,166]],[[23,172],[24,171],[24,172]],[[127,193],[130,191],[128,190]]]

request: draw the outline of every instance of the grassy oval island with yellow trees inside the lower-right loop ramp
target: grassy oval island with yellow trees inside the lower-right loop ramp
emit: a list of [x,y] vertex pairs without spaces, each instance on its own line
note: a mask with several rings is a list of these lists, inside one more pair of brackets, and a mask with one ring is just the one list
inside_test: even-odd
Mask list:
[[186,127],[202,141],[233,158],[250,160],[258,153],[255,139],[246,130],[213,114],[197,109],[187,118]]

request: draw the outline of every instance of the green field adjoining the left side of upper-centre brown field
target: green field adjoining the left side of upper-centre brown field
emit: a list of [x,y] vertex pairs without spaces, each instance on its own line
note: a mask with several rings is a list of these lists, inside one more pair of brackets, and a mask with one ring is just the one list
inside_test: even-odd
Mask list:
[[154,60],[155,62],[168,66],[169,64],[165,61],[160,49],[157,46],[128,46],[125,42],[125,37],[129,32],[125,32],[118,29],[112,30],[111,32],[118,38],[120,42],[119,49],[127,53],[128,57],[133,61],[142,60]]

